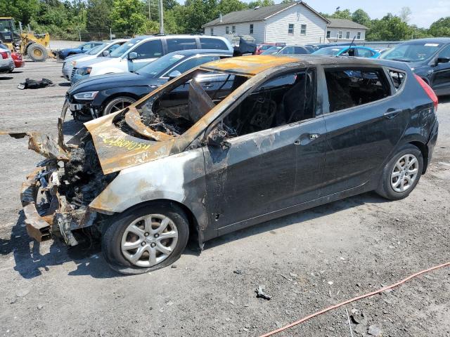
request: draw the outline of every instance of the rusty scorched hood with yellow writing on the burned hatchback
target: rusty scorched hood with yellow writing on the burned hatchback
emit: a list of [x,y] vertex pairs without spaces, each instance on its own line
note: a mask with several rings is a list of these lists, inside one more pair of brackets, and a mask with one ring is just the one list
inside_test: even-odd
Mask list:
[[[104,174],[122,171],[172,154],[175,141],[173,136],[155,133],[151,136],[158,140],[147,140],[124,133],[114,124],[115,117],[120,113],[109,114],[84,124],[91,133]],[[150,136],[151,131],[147,134],[146,127],[143,124],[140,125],[139,120],[134,119],[136,116],[139,116],[136,110],[127,112],[127,124],[139,130],[139,133]]]

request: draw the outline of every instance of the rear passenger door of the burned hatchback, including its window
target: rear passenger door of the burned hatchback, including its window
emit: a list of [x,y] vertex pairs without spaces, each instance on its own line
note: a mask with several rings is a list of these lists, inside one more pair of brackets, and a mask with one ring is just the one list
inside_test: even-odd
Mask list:
[[406,128],[409,110],[395,95],[401,84],[395,88],[382,67],[324,71],[329,103],[325,196],[364,185],[380,173]]

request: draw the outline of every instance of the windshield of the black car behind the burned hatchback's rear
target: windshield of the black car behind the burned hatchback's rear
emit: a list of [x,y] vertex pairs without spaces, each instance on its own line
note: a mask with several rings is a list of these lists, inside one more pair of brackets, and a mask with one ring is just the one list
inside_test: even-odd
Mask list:
[[433,43],[399,44],[390,51],[383,53],[381,58],[403,62],[418,62],[428,60],[441,46],[441,44]]

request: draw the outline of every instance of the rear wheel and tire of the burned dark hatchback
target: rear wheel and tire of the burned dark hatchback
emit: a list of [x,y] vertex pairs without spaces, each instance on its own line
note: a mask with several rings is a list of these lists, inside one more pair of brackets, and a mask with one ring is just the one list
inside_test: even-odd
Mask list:
[[390,200],[404,199],[418,184],[422,171],[422,152],[412,144],[404,145],[385,165],[375,192]]

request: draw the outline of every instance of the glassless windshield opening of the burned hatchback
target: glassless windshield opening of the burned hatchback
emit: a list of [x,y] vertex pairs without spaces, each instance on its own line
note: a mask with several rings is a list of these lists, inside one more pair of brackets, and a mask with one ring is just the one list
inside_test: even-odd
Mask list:
[[126,132],[131,128],[132,136],[145,136],[154,140],[179,136],[247,79],[224,72],[195,70],[176,79],[162,91],[149,95],[136,107],[139,121],[127,117],[133,113],[130,110],[126,118],[117,121],[116,125]]

